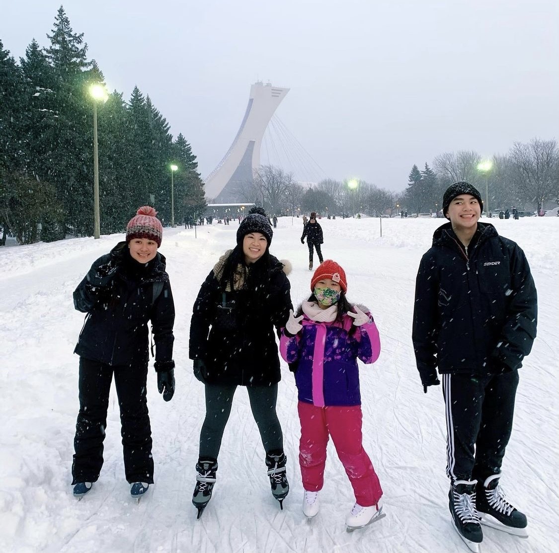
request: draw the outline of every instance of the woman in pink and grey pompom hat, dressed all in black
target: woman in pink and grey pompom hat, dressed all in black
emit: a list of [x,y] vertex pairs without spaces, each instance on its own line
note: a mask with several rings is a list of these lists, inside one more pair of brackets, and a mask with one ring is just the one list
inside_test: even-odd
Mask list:
[[148,322],[155,342],[159,393],[165,401],[174,393],[174,304],[165,258],[157,252],[163,228],[155,215],[153,207],[140,207],[126,227],[126,241],[97,259],[74,291],[75,309],[87,313],[74,350],[80,356],[72,464],[77,497],[91,490],[101,472],[113,375],[130,493],[138,497],[153,484],[146,402]]

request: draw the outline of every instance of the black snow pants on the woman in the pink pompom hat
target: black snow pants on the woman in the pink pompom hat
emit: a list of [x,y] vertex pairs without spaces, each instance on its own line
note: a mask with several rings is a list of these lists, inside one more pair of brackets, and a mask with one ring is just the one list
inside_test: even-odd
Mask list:
[[151,427],[146,400],[148,363],[111,366],[80,357],[79,413],[72,484],[95,482],[103,466],[103,440],[112,376],[119,398],[126,480],[153,484]]

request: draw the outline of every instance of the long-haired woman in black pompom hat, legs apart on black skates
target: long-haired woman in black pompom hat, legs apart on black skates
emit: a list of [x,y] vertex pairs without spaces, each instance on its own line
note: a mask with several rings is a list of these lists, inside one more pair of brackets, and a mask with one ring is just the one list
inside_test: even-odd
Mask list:
[[206,417],[200,433],[196,488],[198,517],[211,498],[217,456],[237,386],[246,386],[257,423],[272,493],[282,502],[289,486],[283,434],[276,414],[280,358],[274,335],[292,309],[285,266],[269,253],[268,219],[250,212],[202,284],[193,308],[190,358],[205,386]]

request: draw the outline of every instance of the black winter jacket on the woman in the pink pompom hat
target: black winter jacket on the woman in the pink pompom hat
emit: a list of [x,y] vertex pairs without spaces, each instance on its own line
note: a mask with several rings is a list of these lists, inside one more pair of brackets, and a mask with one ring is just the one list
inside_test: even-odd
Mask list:
[[74,349],[79,356],[107,365],[147,363],[151,321],[155,360],[163,367],[172,361],[174,303],[159,252],[143,266],[120,242],[92,264],[74,291],[74,307],[88,314]]

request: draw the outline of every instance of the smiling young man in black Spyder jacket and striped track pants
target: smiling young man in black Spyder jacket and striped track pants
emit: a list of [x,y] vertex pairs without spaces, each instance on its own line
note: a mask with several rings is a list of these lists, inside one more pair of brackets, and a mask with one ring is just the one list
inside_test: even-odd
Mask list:
[[518,369],[536,338],[536,287],[522,249],[479,223],[468,182],[443,196],[449,223],[433,235],[415,288],[413,343],[423,389],[440,384],[447,420],[449,507],[472,551],[481,524],[527,537],[527,519],[499,485]]

